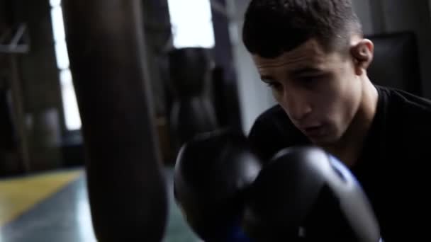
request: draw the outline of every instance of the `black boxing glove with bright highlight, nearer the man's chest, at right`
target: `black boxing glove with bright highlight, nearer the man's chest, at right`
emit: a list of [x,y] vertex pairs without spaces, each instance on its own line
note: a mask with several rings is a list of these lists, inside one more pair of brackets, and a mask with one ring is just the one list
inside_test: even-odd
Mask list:
[[313,146],[283,149],[269,161],[250,188],[243,225],[254,241],[381,240],[354,175]]

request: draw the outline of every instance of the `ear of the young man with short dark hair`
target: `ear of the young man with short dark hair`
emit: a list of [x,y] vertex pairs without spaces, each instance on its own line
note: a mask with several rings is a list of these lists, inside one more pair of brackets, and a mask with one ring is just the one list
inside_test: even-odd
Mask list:
[[371,40],[362,39],[350,47],[354,59],[354,68],[358,76],[369,67],[374,57],[374,44]]

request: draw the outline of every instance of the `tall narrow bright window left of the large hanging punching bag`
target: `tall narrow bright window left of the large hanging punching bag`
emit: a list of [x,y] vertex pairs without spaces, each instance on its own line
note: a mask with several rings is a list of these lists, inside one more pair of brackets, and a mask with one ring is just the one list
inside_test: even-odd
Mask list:
[[50,5],[55,57],[59,69],[63,110],[65,111],[65,125],[68,130],[77,130],[81,129],[81,118],[79,117],[77,98],[72,83],[72,74],[69,70],[69,55],[67,54],[61,0],[50,0]]

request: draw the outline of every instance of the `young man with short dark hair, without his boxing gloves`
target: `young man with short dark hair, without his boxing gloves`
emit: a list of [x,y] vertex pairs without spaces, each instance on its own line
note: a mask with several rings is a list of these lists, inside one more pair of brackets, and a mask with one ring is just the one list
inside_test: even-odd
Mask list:
[[371,82],[351,1],[252,0],[243,41],[278,102],[251,129],[258,156],[320,146],[358,178],[385,241],[427,237],[431,101]]

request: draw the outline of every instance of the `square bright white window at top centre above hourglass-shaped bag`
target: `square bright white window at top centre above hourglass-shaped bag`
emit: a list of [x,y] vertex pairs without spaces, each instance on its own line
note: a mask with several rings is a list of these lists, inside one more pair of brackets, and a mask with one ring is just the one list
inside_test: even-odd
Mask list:
[[174,47],[215,45],[209,0],[168,0]]

